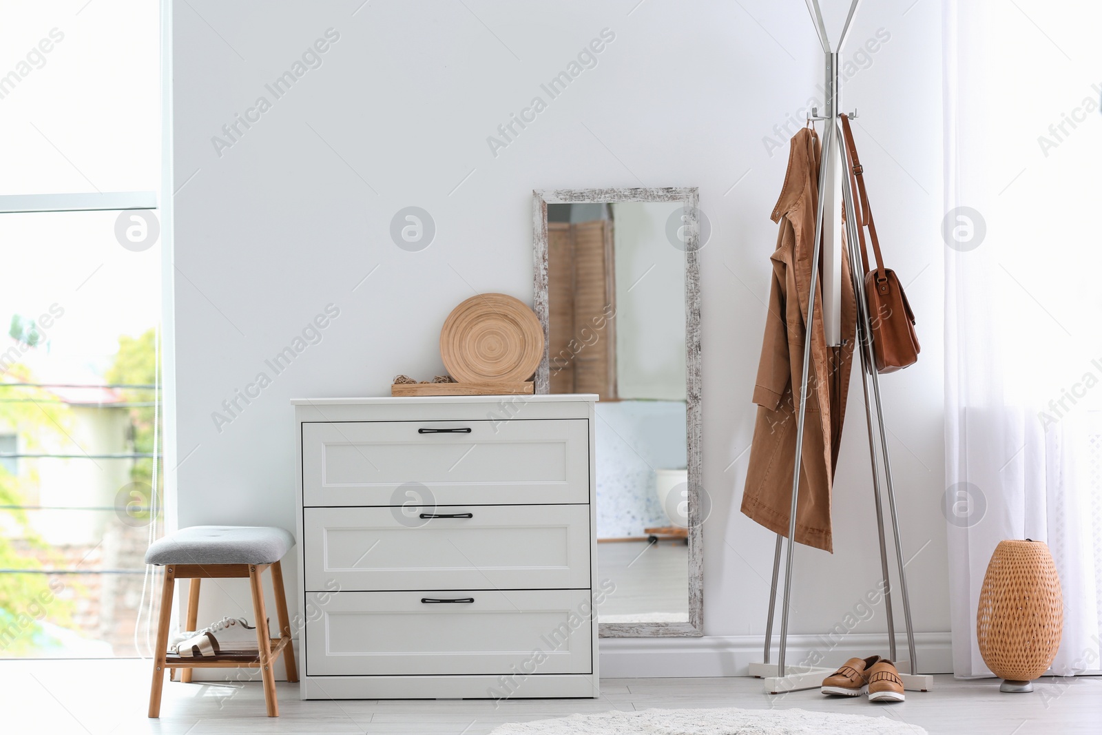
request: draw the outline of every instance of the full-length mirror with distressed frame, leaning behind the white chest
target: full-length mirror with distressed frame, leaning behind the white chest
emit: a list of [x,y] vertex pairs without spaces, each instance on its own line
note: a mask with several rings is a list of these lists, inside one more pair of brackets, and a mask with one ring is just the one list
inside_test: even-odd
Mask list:
[[701,635],[696,190],[536,192],[534,215],[537,392],[601,397],[601,635]]

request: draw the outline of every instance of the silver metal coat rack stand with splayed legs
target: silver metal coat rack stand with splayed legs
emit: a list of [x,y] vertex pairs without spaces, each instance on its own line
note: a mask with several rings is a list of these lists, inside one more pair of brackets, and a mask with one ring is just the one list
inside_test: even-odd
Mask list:
[[[853,0],[853,3],[850,6],[850,12],[845,19],[842,35],[839,39],[838,46],[833,51],[831,50],[830,41],[828,40],[827,26],[823,24],[823,17],[822,11],[819,8],[819,0],[804,0],[804,2],[808,6],[808,11],[811,13],[811,20],[815,25],[815,32],[818,33],[819,41],[822,43],[823,47],[827,66],[827,80],[824,85],[827,109],[825,115],[820,117],[818,108],[813,108],[811,117],[809,118],[809,120],[822,121],[824,123],[824,130],[822,141],[822,160],[819,167],[819,203],[815,212],[814,251],[811,258],[811,288],[809,289],[808,294],[808,324],[807,334],[803,341],[803,372],[800,383],[800,401],[796,424],[796,458],[795,471],[792,473],[792,504],[788,520],[788,543],[786,544],[785,592],[781,601],[780,614],[780,647],[778,650],[777,663],[770,663],[769,652],[773,645],[773,621],[777,607],[777,581],[780,574],[781,545],[785,539],[785,537],[778,533],[777,547],[774,552],[773,561],[773,586],[769,592],[769,617],[766,621],[764,660],[760,663],[752,663],[749,666],[749,672],[750,675],[765,679],[766,692],[770,694],[779,694],[782,692],[818,688],[822,683],[823,678],[834,671],[832,668],[823,669],[817,666],[786,666],[785,653],[788,648],[788,615],[792,586],[792,550],[793,539],[796,537],[796,510],[800,487],[804,419],[807,418],[808,376],[809,367],[811,365],[811,338],[813,334],[815,289],[819,282],[819,261],[821,255],[824,256],[823,260],[827,263],[824,270],[828,271],[828,275],[838,279],[838,283],[824,283],[823,290],[828,291],[828,287],[830,287],[832,288],[831,294],[841,293],[841,242],[838,238],[832,237],[832,246],[836,247],[838,251],[832,253],[823,253],[822,251],[824,235],[823,218],[828,206],[827,203],[828,201],[832,201],[834,203],[833,206],[836,207],[836,190],[840,188],[842,194],[842,204],[845,207],[845,244],[849,248],[850,274],[853,281],[854,296],[857,302],[856,350],[861,355],[862,389],[864,390],[865,396],[865,421],[868,425],[868,453],[873,466],[873,493],[876,501],[876,525],[879,532],[880,574],[884,590],[884,608],[887,615],[888,627],[888,658],[896,663],[900,678],[904,681],[905,689],[927,691],[933,684],[933,677],[916,673],[918,669],[915,656],[915,630],[911,625],[910,599],[907,595],[907,576],[906,570],[904,569],[906,564],[903,560],[903,544],[899,540],[899,519],[896,514],[895,491],[892,485],[892,461],[888,455],[887,435],[884,429],[884,411],[880,403],[880,387],[876,372],[876,360],[873,356],[873,331],[868,315],[868,302],[865,299],[864,274],[862,272],[863,268],[860,266],[863,261],[861,252],[857,249],[857,244],[860,241],[857,228],[860,227],[860,224],[857,223],[855,215],[856,209],[853,202],[853,192],[849,185],[850,177],[846,169],[846,154],[842,143],[842,133],[839,127],[839,116],[842,109],[841,79],[839,77],[841,52],[845,44],[846,35],[849,35],[850,28],[853,23],[853,18],[857,12],[857,7],[861,4],[861,0]],[[850,117],[856,118],[856,111],[854,111]],[[838,184],[839,177],[834,174],[834,171],[831,170],[831,166],[834,166],[835,171],[843,172],[842,179],[844,181],[841,185]],[[823,314],[824,321],[840,318],[840,311],[830,303],[823,304]],[[830,324],[825,324],[824,326],[827,327],[824,329],[824,333],[827,334],[839,333],[839,329],[834,328]],[[869,382],[872,382],[872,402],[869,402]],[[875,422],[873,421],[874,409],[876,414]],[[874,426],[876,429],[875,434]],[[877,445],[879,454],[877,454]],[[884,469],[884,488],[887,490],[888,496],[888,510],[892,517],[895,556],[896,564],[898,565],[899,593],[904,608],[904,620],[907,628],[907,652],[909,655],[909,659],[907,661],[898,661],[896,659],[895,618],[892,609],[892,597],[895,592],[895,586],[892,584],[888,569],[887,539],[884,530],[884,504],[880,494],[880,462],[883,462]],[[869,651],[869,653],[872,652],[873,651]]]

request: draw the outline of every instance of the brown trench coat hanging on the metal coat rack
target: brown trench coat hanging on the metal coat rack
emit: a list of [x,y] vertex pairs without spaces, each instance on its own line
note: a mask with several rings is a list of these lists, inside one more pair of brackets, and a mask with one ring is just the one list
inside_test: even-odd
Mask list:
[[[815,207],[819,201],[819,137],[804,128],[791,140],[788,172],[773,220],[780,225],[773,261],[773,287],[761,360],[754,386],[758,404],[750,445],[742,511],[771,531],[788,536],[792,502],[792,463],[796,454],[799,391],[803,370],[808,290],[814,247]],[[820,269],[820,273],[821,273]],[[831,493],[842,437],[845,398],[850,386],[856,303],[850,280],[849,258],[842,259],[841,347],[828,347],[823,336],[822,282],[815,291],[814,333],[811,342],[810,400],[803,432],[796,540],[833,552]]]

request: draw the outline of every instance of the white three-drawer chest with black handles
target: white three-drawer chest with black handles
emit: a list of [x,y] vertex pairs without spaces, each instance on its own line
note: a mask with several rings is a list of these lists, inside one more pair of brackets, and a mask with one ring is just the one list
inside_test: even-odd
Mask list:
[[303,699],[598,695],[595,400],[293,401]]

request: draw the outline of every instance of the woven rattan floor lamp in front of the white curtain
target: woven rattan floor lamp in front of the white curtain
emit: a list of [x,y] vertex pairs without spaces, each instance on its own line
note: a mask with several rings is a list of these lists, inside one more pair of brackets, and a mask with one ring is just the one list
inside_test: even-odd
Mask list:
[[1002,692],[1031,692],[1060,648],[1063,598],[1048,545],[1000,541],[987,564],[975,616],[980,655]]

